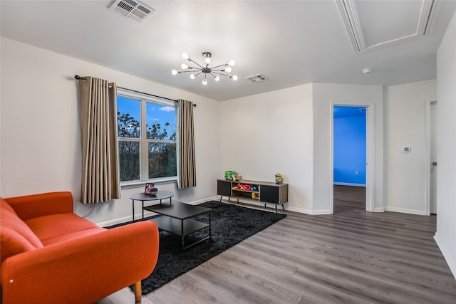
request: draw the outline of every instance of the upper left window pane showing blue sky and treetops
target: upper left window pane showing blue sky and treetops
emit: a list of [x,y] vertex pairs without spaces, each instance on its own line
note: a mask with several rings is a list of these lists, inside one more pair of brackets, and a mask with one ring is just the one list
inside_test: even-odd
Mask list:
[[141,137],[141,102],[123,96],[117,97],[117,125],[119,137]]

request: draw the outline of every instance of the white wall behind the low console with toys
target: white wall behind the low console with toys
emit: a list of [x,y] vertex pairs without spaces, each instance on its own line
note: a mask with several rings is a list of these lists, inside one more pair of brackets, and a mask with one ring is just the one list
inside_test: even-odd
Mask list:
[[289,184],[286,209],[312,210],[312,85],[237,98],[220,107],[221,165],[244,179]]

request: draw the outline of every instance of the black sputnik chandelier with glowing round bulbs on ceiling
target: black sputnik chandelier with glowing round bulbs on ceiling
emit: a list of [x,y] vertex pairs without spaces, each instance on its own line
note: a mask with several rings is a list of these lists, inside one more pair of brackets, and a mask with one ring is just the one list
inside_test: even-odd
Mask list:
[[206,66],[203,66],[204,64],[199,65],[199,63],[190,58],[187,53],[182,53],[182,58],[187,59],[191,63],[195,63],[197,66],[189,66],[185,63],[182,63],[182,65],[180,65],[180,68],[182,68],[182,70],[172,70],[171,73],[172,75],[191,73],[190,78],[192,79],[197,78],[199,74],[204,74],[204,78],[202,80],[203,85],[207,85],[207,75],[211,75],[215,81],[220,80],[219,75],[227,76],[228,78],[232,78],[232,80],[237,80],[237,75],[229,74],[232,71],[231,67],[234,65],[234,63],[236,63],[234,60],[230,60],[227,63],[223,63],[221,65],[210,68],[209,63],[211,63],[211,56],[212,54],[209,52],[202,53],[204,63],[206,63]]

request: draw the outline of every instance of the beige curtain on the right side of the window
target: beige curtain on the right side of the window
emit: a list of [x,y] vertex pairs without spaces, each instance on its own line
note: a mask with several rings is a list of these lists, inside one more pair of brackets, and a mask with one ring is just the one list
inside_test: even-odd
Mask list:
[[179,181],[178,188],[195,187],[195,135],[193,133],[193,103],[177,100],[179,112]]

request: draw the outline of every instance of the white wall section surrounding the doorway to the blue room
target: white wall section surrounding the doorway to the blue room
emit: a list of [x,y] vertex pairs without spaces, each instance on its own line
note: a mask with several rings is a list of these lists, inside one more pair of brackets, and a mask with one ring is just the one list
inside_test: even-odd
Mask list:
[[365,105],[374,110],[374,209],[383,211],[383,89],[380,85],[315,83],[314,101],[314,214],[331,212],[331,105]]

